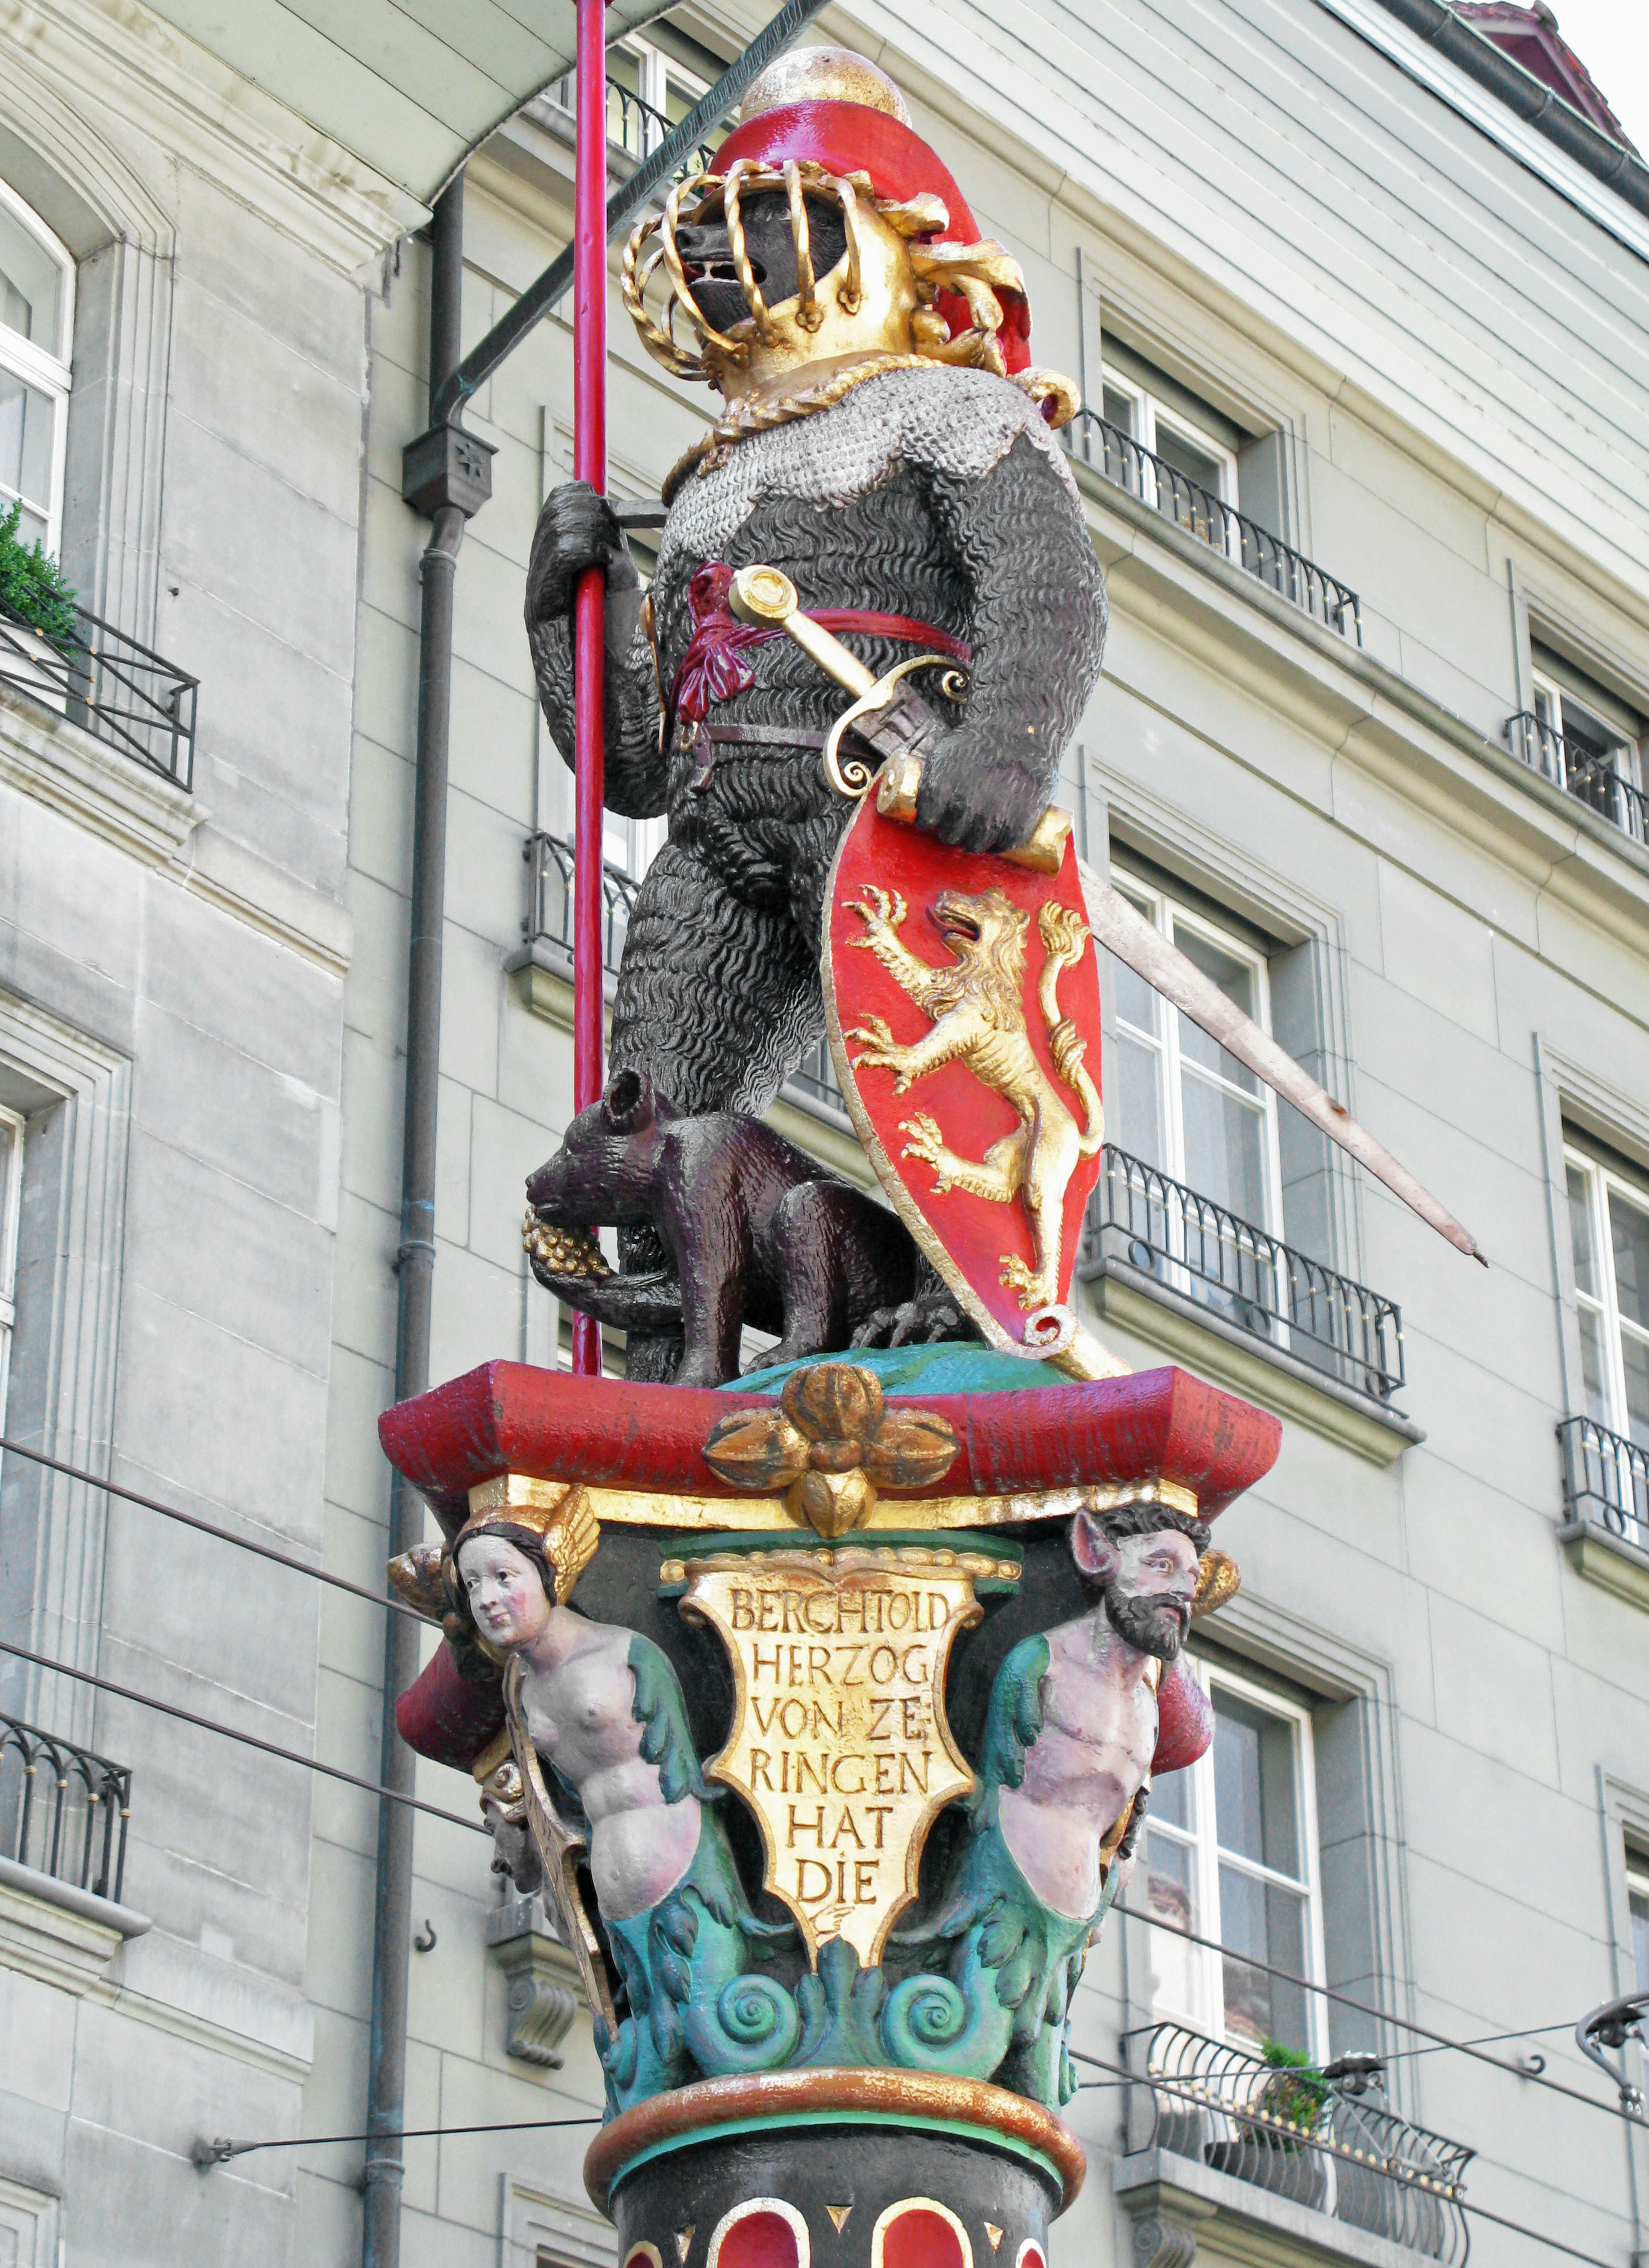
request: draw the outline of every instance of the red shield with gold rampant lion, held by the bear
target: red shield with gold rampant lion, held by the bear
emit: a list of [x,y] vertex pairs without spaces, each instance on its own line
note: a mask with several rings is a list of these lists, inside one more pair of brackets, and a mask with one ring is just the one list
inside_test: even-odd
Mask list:
[[1077,857],[955,850],[866,796],[826,903],[830,1052],[887,1195],[987,1338],[1046,1347],[1100,1173]]

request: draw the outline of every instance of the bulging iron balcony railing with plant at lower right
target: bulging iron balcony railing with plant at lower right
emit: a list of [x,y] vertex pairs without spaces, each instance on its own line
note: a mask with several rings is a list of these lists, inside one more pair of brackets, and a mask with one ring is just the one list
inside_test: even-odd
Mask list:
[[[1477,2155],[1399,2118],[1368,2077],[1325,2080],[1179,2023],[1125,2037],[1130,2150],[1168,2150],[1463,2268]],[[1352,2089],[1361,2089],[1354,2093]]]

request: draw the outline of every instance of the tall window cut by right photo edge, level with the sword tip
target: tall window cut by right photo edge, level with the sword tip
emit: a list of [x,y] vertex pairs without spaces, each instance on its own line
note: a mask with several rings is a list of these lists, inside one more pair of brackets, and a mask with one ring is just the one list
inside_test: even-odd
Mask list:
[[1570,1520],[1649,1549],[1649,1179],[1567,1141],[1585,1413],[1561,1427]]

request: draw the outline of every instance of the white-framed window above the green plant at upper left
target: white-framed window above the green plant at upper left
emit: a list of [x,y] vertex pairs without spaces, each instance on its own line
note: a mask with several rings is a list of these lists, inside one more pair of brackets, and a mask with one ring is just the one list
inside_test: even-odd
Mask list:
[[0,181],[0,513],[57,553],[75,270],[52,231]]

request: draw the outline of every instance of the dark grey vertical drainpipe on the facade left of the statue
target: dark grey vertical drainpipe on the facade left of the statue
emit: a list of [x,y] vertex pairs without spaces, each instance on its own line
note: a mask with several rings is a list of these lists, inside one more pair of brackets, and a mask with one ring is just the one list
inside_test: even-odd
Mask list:
[[[463,306],[463,172],[435,200],[429,272],[429,395],[458,367]],[[451,592],[470,510],[490,476],[483,442],[433,429],[438,460],[408,465],[404,494],[431,517],[422,560],[417,649],[417,776],[413,798],[413,923],[406,957],[406,1129],[401,1148],[401,1245],[395,1327],[395,1399],[429,1386],[429,1315],[435,1288],[435,1098],[440,1089],[440,932],[447,894],[447,728],[451,719]],[[415,445],[417,447],[417,445]],[[408,451],[411,458],[413,451]],[[429,458],[429,449],[424,458]],[[390,1492],[390,1549],[424,1538],[424,1501],[399,1474]],[[415,1758],[395,1728],[395,1701],[417,1676],[417,1624],[386,1615],[383,1742],[379,1778],[413,1794]],[[406,2125],[406,1980],[413,1935],[413,1812],[379,1799],[377,1916],[372,1935],[372,2043],[367,2062],[367,2157],[363,2268],[399,2268],[401,2130]]]

